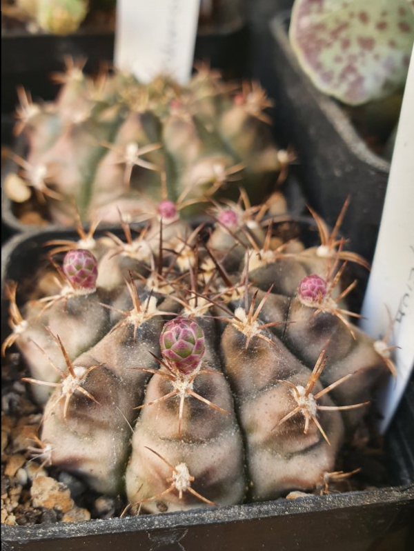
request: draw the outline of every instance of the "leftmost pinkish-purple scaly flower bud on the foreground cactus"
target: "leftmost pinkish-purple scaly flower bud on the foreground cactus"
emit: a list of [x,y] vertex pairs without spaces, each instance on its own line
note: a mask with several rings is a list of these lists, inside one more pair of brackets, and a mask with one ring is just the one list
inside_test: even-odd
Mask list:
[[97,259],[89,250],[68,251],[63,259],[62,269],[75,289],[95,289],[98,277]]

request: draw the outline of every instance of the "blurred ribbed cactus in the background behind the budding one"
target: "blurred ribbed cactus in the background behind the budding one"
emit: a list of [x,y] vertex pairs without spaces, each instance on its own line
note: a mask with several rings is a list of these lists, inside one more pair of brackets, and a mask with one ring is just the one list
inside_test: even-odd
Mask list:
[[19,91],[16,132],[27,151],[12,154],[17,173],[4,186],[23,223],[69,226],[76,210],[108,223],[119,211],[128,221],[157,208],[194,214],[206,196],[237,199],[240,185],[259,203],[293,159],[275,146],[272,103],[257,83],[226,83],[206,66],[187,86],[165,76],[144,85],[124,72],[92,79],[70,60],[55,78],[54,102]]

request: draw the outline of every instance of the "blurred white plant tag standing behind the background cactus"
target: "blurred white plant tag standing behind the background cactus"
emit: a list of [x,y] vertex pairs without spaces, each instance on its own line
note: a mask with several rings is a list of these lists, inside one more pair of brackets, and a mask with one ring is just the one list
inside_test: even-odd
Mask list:
[[199,0],[118,0],[115,66],[144,83],[160,73],[185,84],[193,68]]

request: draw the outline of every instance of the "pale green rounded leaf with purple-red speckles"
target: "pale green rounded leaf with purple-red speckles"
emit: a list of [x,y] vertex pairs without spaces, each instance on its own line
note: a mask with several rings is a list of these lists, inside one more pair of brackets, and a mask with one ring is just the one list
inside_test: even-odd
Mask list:
[[414,41],[414,0],[295,0],[290,43],[322,92],[349,105],[402,88]]

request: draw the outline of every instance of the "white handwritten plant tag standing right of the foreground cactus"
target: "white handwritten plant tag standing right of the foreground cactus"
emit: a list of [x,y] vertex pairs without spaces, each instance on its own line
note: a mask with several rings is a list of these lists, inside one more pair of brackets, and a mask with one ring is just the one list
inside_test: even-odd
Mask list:
[[[397,368],[380,394],[384,418],[380,430],[388,427],[404,393],[414,364],[414,55],[408,70],[400,123],[395,139],[391,172],[373,268],[360,323],[374,339],[382,339],[391,326],[390,345]],[[368,206],[369,208],[369,206]],[[389,314],[388,314],[389,312]]]

